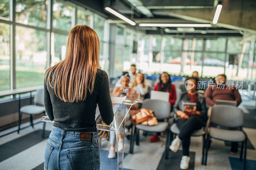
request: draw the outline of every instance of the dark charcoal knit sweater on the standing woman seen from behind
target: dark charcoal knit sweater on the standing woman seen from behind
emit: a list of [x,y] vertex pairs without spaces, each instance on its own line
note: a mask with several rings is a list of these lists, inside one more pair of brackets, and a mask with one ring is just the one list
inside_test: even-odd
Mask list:
[[114,113],[109,93],[108,74],[104,70],[97,70],[92,94],[87,91],[86,99],[79,102],[64,102],[60,100],[44,81],[44,105],[53,126],[80,132],[95,132],[96,106],[99,106],[101,119],[106,124],[113,121]]

